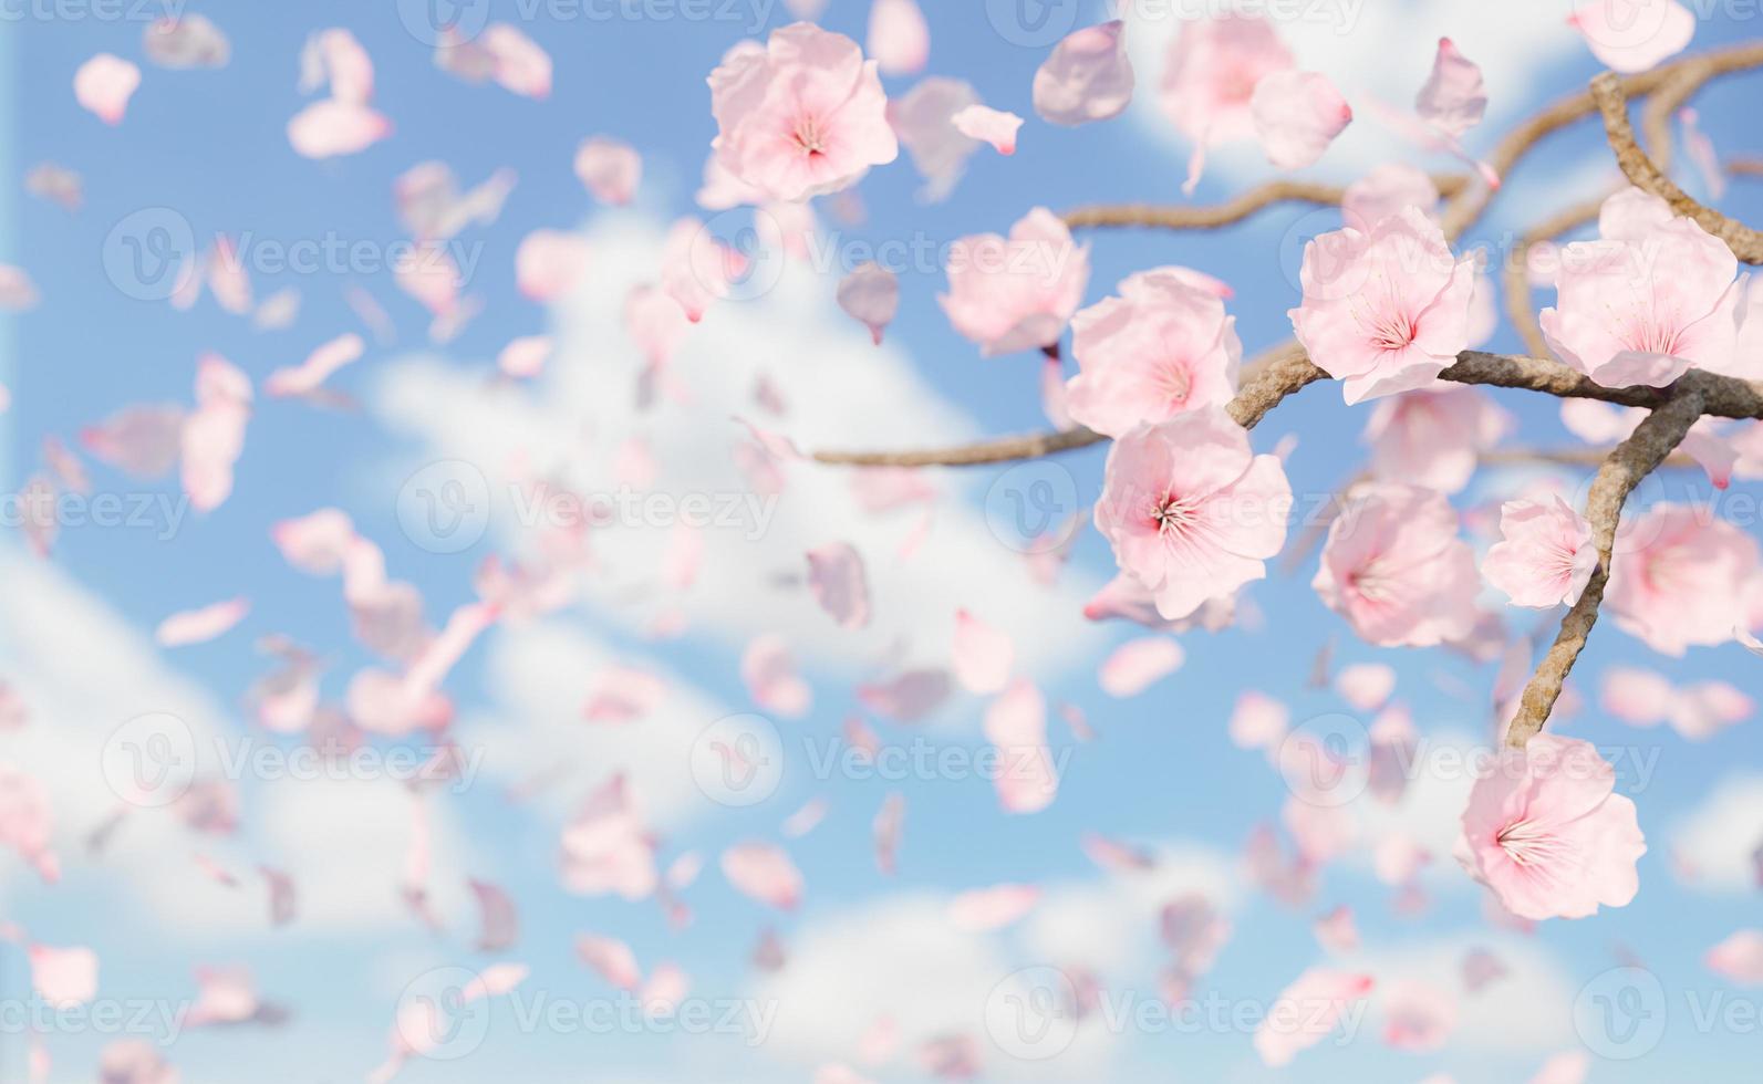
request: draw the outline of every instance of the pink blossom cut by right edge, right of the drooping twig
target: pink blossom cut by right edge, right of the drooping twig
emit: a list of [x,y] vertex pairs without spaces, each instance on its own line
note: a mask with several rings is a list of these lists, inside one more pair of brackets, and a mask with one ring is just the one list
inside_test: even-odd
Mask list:
[[1618,531],[1604,608],[1654,650],[1682,656],[1749,626],[1759,575],[1754,538],[1701,508],[1661,502]]

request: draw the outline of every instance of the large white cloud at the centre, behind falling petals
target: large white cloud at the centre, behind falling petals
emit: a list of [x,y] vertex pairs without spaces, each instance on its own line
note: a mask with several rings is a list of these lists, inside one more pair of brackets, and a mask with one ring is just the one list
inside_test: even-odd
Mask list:
[[[633,437],[652,449],[658,476],[649,492],[739,499],[746,481],[732,462],[746,412],[788,434],[804,449],[887,448],[971,439],[975,423],[945,400],[896,345],[874,347],[832,300],[836,282],[793,264],[762,298],[714,305],[691,330],[670,374],[691,402],[666,397],[647,412],[635,407],[642,358],[624,331],[629,289],[654,278],[663,233],[631,215],[596,219],[587,231],[594,252],[587,282],[554,310],[557,354],[531,386],[492,386],[483,370],[435,360],[404,360],[384,374],[372,409],[395,432],[420,442],[404,465],[457,458],[495,479],[511,464],[561,476],[582,494],[617,492],[614,460]],[[770,419],[755,404],[767,379],[788,404]],[[737,529],[703,532],[696,583],[682,594],[658,585],[670,527],[647,522],[591,529],[596,571],[589,606],[596,617],[642,627],[679,605],[695,631],[740,649],[758,633],[783,633],[804,661],[839,670],[878,672],[903,661],[947,659],[954,610],[973,606],[1017,638],[1021,668],[1081,665],[1100,636],[1075,619],[1095,583],[1067,573],[1058,589],[1040,589],[1026,561],[1003,545],[973,508],[996,472],[927,474],[941,497],[934,527],[910,561],[897,555],[919,520],[915,511],[866,513],[852,472],[793,464],[763,531],[749,516]],[[508,502],[511,504],[511,502]],[[506,508],[504,508],[506,511]],[[504,522],[499,518],[499,523]],[[506,538],[504,538],[506,541]],[[862,553],[874,598],[874,620],[846,631],[804,589],[804,553],[848,541]],[[1038,629],[1058,627],[1058,636]]]

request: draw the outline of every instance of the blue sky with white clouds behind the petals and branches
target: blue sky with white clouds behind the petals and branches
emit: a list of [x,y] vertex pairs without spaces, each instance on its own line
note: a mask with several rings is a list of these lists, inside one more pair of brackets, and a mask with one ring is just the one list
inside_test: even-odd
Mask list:
[[[1678,684],[1724,679],[1759,694],[1758,659],[1737,645],[1659,657],[1608,622],[1592,636],[1576,670],[1583,710],[1567,730],[1606,751],[1624,772],[1622,790],[1640,804],[1650,851],[1631,906],[1592,920],[1555,920],[1532,934],[1490,927],[1483,892],[1449,857],[1467,786],[1423,776],[1402,807],[1368,816],[1361,846],[1322,872],[1315,899],[1289,908],[1238,871],[1248,834],[1276,820],[1287,798],[1266,760],[1225,737],[1238,694],[1261,689],[1287,702],[1294,724],[1350,714],[1333,693],[1306,686],[1317,650],[1335,642],[1336,665],[1396,668],[1396,698],[1430,742],[1467,747],[1490,735],[1495,665],[1358,643],[1310,589],[1315,557],[1308,555],[1296,571],[1275,569],[1250,589],[1259,620],[1218,635],[1181,635],[1181,670],[1134,698],[1104,694],[1098,663],[1111,647],[1142,635],[1135,626],[1098,627],[1081,615],[1082,601],[1112,571],[1105,545],[1081,527],[1070,562],[1045,587],[998,520],[1014,492],[1053,492],[1061,513],[1088,506],[1100,488],[1100,448],[1014,471],[929,472],[938,488],[934,525],[911,559],[899,559],[897,550],[915,515],[867,515],[846,476],[811,465],[792,467],[765,531],[707,539],[700,580],[686,592],[658,583],[666,531],[621,525],[605,541],[594,539],[606,571],[582,598],[559,613],[492,629],[448,679],[457,737],[481,758],[481,770],[469,786],[428,802],[439,932],[423,929],[397,901],[411,800],[388,779],[247,772],[238,779],[234,835],[196,837],[164,811],[138,811],[102,853],[85,853],[83,839],[116,807],[100,770],[116,726],[145,712],[173,712],[206,749],[287,747],[289,739],[252,731],[247,721],[243,696],[272,668],[254,642],[280,633],[316,649],[328,663],[323,689],[330,702],[372,661],[349,635],[338,585],[291,569],[270,543],[275,522],[326,506],[347,511],[384,550],[388,571],[423,592],[428,620],[439,624],[471,601],[472,571],[487,555],[520,553],[531,539],[513,523],[506,490],[492,483],[495,511],[483,538],[462,552],[437,552],[451,546],[432,545],[413,518],[420,504],[411,485],[435,462],[465,462],[499,479],[524,455],[594,492],[612,483],[621,444],[642,435],[656,453],[658,490],[735,494],[728,449],[740,430],[728,416],[756,416],[760,375],[788,404],[765,425],[802,448],[915,446],[1045,428],[1040,360],[980,358],[936,303],[945,277],[934,261],[903,268],[901,314],[880,349],[832,305],[837,278],[850,270],[841,261],[862,243],[936,250],[963,234],[1003,233],[1033,206],[1179,203],[1188,146],[1155,104],[1158,37],[1169,23],[1135,28],[1139,93],[1128,115],[1067,130],[1033,118],[1030,85],[1047,42],[1014,42],[1021,33],[998,18],[1007,5],[926,4],[927,74],[968,79],[987,104],[1030,116],[1019,153],[1005,159],[982,148],[945,203],[917,197],[922,182],[903,157],[860,185],[860,224],[837,224],[820,206],[822,226],[832,231],[825,241],[830,264],[797,263],[776,287],[712,308],[673,367],[693,402],[638,412],[640,358],[621,326],[622,300],[633,284],[654,278],[668,226],[681,215],[703,215],[693,196],[716,134],[705,76],[742,37],[788,23],[781,5],[744,0],[723,9],[733,18],[707,19],[651,5],[640,18],[601,19],[594,12],[606,5],[492,2],[492,19],[517,23],[552,55],[555,86],[547,100],[439,71],[418,33],[414,4],[192,2],[183,11],[206,14],[231,39],[231,63],[219,71],[146,63],[143,23],[104,18],[97,14],[102,5],[56,16],[44,14],[46,4],[0,7],[7,11],[0,21],[7,74],[0,81],[0,167],[9,178],[0,199],[0,261],[23,266],[41,293],[35,308],[0,324],[0,384],[12,393],[11,411],[0,414],[0,490],[16,492],[41,467],[48,435],[74,442],[81,427],[129,404],[189,404],[205,351],[261,382],[342,331],[368,338],[365,358],[331,381],[353,407],[259,398],[234,494],[213,513],[167,513],[176,509],[175,478],[148,485],[88,462],[95,492],[148,508],[145,523],[69,525],[51,561],[37,559],[16,527],[0,534],[0,680],[19,689],[30,709],[25,728],[0,733],[0,760],[49,784],[65,865],[63,881],[48,888],[11,853],[0,858],[4,917],[41,943],[90,945],[102,961],[100,999],[108,1003],[175,1005],[194,996],[196,966],[247,964],[259,994],[289,1010],[273,1028],[180,1036],[164,1054],[183,1080],[361,1079],[384,1058],[400,992],[435,968],[520,961],[532,968],[520,987],[527,1005],[536,998],[608,999],[614,991],[571,950],[584,932],[626,939],[645,971],[675,961],[691,975],[696,999],[776,1005],[776,1026],[762,1043],[735,1035],[681,1036],[658,1026],[525,1028],[518,999],[497,999],[481,1042],[457,1049],[458,1058],[413,1063],[402,1079],[809,1080],[827,1061],[855,1061],[855,1036],[880,1013],[896,1015],[913,1040],[973,1033],[987,1077],[1003,1080],[1421,1080],[1433,1072],[1463,1082],[1511,1080],[1574,1049],[1597,1054],[1588,1077],[1596,1082],[1754,1075],[1759,991],[1726,984],[1701,955],[1758,918],[1758,888],[1742,865],[1763,841],[1758,723],[1701,744],[1666,728],[1634,730],[1597,709],[1596,679],[1613,665],[1643,665]],[[1070,7],[1068,18],[1081,23],[1100,18],[1098,5]],[[1472,150],[1486,150],[1514,118],[1597,72],[1564,21],[1567,7],[1566,0],[1379,2],[1335,9],[1347,16],[1340,21],[1282,25],[1282,33],[1305,67],[1328,72],[1349,99],[1398,104],[1425,81],[1433,41],[1451,35],[1486,74],[1491,111],[1467,139]],[[1754,11],[1728,7],[1700,18],[1691,49],[1759,32]],[[1053,9],[1054,18],[1067,11]],[[860,41],[866,14],[864,0],[830,0],[822,23]],[[307,102],[296,86],[301,42],[326,26],[347,26],[374,58],[374,106],[395,132],[360,155],[312,162],[289,148],[286,122]],[[74,69],[99,51],[143,65],[143,85],[115,129],[81,109],[71,90]],[[887,90],[901,93],[913,81],[889,79]],[[1763,78],[1738,76],[1696,99],[1703,129],[1722,153],[1756,150],[1759,92]],[[1352,180],[1391,157],[1451,167],[1380,136],[1370,111],[1361,118],[1312,174]],[[603,208],[577,180],[575,148],[592,134],[642,152],[645,174],[633,206]],[[501,217],[457,240],[476,261],[464,293],[481,300],[483,312],[451,342],[430,344],[427,312],[390,275],[365,266],[365,257],[319,273],[252,264],[252,252],[273,245],[346,241],[360,252],[384,252],[404,236],[393,180],[423,160],[446,162],[462,185],[504,167],[518,174]],[[23,174],[39,162],[79,171],[85,206],[69,213],[26,196]],[[1225,199],[1269,174],[1253,148],[1218,153],[1194,201]],[[1578,125],[1525,160],[1465,243],[1488,245],[1500,259],[1514,231],[1613,180],[1599,132]],[[1701,190],[1692,174],[1684,180]],[[1763,185],[1738,180],[1719,206],[1763,220]],[[187,222],[199,247],[215,234],[240,238],[256,296],[296,289],[298,319],[259,331],[206,296],[187,312],[130,296],[116,282],[116,231],[143,212]],[[716,226],[732,233],[742,215]],[[1255,353],[1289,337],[1285,310],[1298,301],[1301,241],[1335,226],[1331,215],[1276,208],[1216,234],[1097,233],[1081,238],[1091,243],[1093,261],[1086,301],[1135,270],[1201,268],[1236,287],[1231,312]],[[513,273],[520,238],[539,227],[582,231],[591,249],[587,278],[550,307],[527,301]],[[346,300],[351,287],[365,289],[390,314],[390,340],[376,340],[361,324]],[[1544,303],[1537,294],[1537,305]],[[527,384],[495,381],[501,347],[538,333],[557,337],[548,372]],[[1502,328],[1490,349],[1521,347]],[[1555,400],[1497,398],[1518,418],[1516,442],[1573,442]],[[1283,404],[1253,441],[1266,451],[1296,437],[1287,462],[1292,488],[1301,499],[1320,499],[1358,471],[1366,414],[1345,409],[1324,384]],[[1037,490],[1037,481],[1051,488]],[[1484,472],[1454,502],[1470,509],[1521,481],[1511,471]],[[1735,483],[1722,506],[1752,532],[1759,490]],[[1700,472],[1678,471],[1663,476],[1647,499],[1707,499],[1710,492]],[[876,598],[869,629],[832,627],[802,589],[802,553],[829,541],[857,545],[869,564]],[[196,647],[153,643],[152,631],[166,615],[238,594],[252,601],[238,629]],[[1045,813],[1001,813],[991,784],[971,774],[816,777],[823,774],[809,751],[836,742],[844,717],[860,712],[853,686],[947,657],[957,606],[1005,627],[1017,643],[1019,672],[1049,703],[1079,707],[1097,731],[1095,740],[1079,742],[1053,712],[1061,788]],[[675,612],[688,617],[682,636],[645,635],[658,617]],[[1553,617],[1537,612],[1506,617],[1514,633],[1553,627]],[[777,791],[732,809],[693,784],[691,747],[716,719],[755,710],[740,654],[762,633],[786,638],[815,702],[804,717],[776,721],[785,751]],[[670,696],[658,717],[626,728],[580,719],[594,679],[615,663],[666,677]],[[890,742],[971,751],[984,746],[984,698],[957,693],[913,728],[869,721]],[[663,860],[686,851],[705,857],[703,874],[684,892],[696,915],[684,931],[670,929],[654,901],[571,895],[557,880],[557,834],[568,811],[621,770],[663,839]],[[543,793],[510,800],[511,786],[541,772],[555,776]],[[892,791],[904,797],[908,813],[899,871],[885,876],[873,858],[871,821]],[[733,892],[716,855],[742,839],[776,841],[779,821],[816,797],[829,802],[825,823],[785,841],[807,885],[799,911],[770,913]],[[1417,917],[1396,911],[1395,888],[1372,874],[1365,857],[1380,834],[1398,827],[1435,851],[1423,876],[1430,906]],[[1164,860],[1137,878],[1098,869],[1079,846],[1091,832],[1153,848]],[[1703,876],[1673,869],[1673,843],[1701,858]],[[242,871],[243,883],[227,888],[206,878],[194,853]],[[301,915],[293,925],[268,924],[261,880],[249,876],[257,864],[296,878]],[[494,881],[518,901],[522,936],[513,948],[472,950],[476,915],[465,878]],[[952,894],[1003,881],[1042,885],[1040,906],[994,934],[948,927],[943,910]],[[1329,1040],[1287,1070],[1264,1068],[1250,1035],[1234,1028],[1128,1026],[1116,1035],[1090,1028],[1045,1061],[1014,1059],[987,1042],[980,1024],[987,996],[1021,968],[1090,966],[1112,994],[1153,1001],[1162,966],[1157,910],[1195,890],[1213,897],[1236,931],[1197,991],[1232,1005],[1264,1005],[1306,966],[1328,959],[1310,924],[1338,904],[1354,908],[1365,938],[1356,962],[1382,989],[1403,976],[1456,989],[1458,964],[1472,947],[1497,952],[1513,975],[1504,989],[1465,998],[1456,1031],[1435,1054],[1386,1047],[1375,1001],[1350,1043]],[[765,927],[777,931],[790,955],[777,975],[749,962]],[[1627,961],[1657,978],[1657,992],[1633,973],[1608,975]],[[0,948],[0,984],[9,1005],[25,998],[28,968],[12,947]],[[1664,1022],[1657,1042],[1611,1042],[1608,1028],[1587,1022],[1603,1013],[1599,998],[1636,1005],[1636,991],[1641,1012],[1663,1006],[1647,1017]],[[1590,1006],[1578,1026],[1576,999]],[[1696,1017],[1698,1008],[1731,1006],[1737,1017],[1724,1022]],[[49,1079],[95,1079],[97,1051],[115,1038],[58,1021],[44,1038]],[[25,1040],[9,1019],[0,1031],[0,1080],[25,1079],[23,1066]],[[922,1079],[910,1047],[864,1072],[887,1082]]]

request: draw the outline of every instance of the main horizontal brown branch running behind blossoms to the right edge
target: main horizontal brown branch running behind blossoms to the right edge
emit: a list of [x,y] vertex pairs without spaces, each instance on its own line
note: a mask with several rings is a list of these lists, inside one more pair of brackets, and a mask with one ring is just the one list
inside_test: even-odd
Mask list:
[[[1273,353],[1264,365],[1243,381],[1241,390],[1238,390],[1236,398],[1231,400],[1225,411],[1243,428],[1255,428],[1268,411],[1280,405],[1287,395],[1326,379],[1328,374],[1317,368],[1305,351],[1282,349]],[[1647,409],[1663,407],[1673,398],[1671,391],[1664,388],[1604,388],[1603,384],[1594,384],[1590,377],[1548,358],[1486,354],[1483,351],[1463,351],[1456,356],[1456,365],[1440,372],[1439,379],[1451,381],[1453,384],[1525,388],[1560,398],[1597,398],[1625,407]],[[1694,391],[1701,411],[1712,418],[1763,418],[1763,386],[1749,381],[1691,370],[1677,382],[1677,390]],[[1072,451],[1105,439],[1102,434],[1090,432],[1088,428],[1068,428],[1049,434],[1000,437],[996,441],[980,441],[978,444],[957,444],[954,448],[816,451],[815,460],[859,467],[973,467]]]

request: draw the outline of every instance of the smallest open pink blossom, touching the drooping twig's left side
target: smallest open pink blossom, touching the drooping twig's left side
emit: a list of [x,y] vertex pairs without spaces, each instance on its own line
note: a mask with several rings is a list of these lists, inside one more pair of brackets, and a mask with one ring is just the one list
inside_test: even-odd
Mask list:
[[1571,606],[1597,568],[1597,546],[1585,516],[1555,497],[1555,504],[1507,501],[1500,506],[1500,536],[1481,562],[1481,573],[1511,596],[1514,606]]

